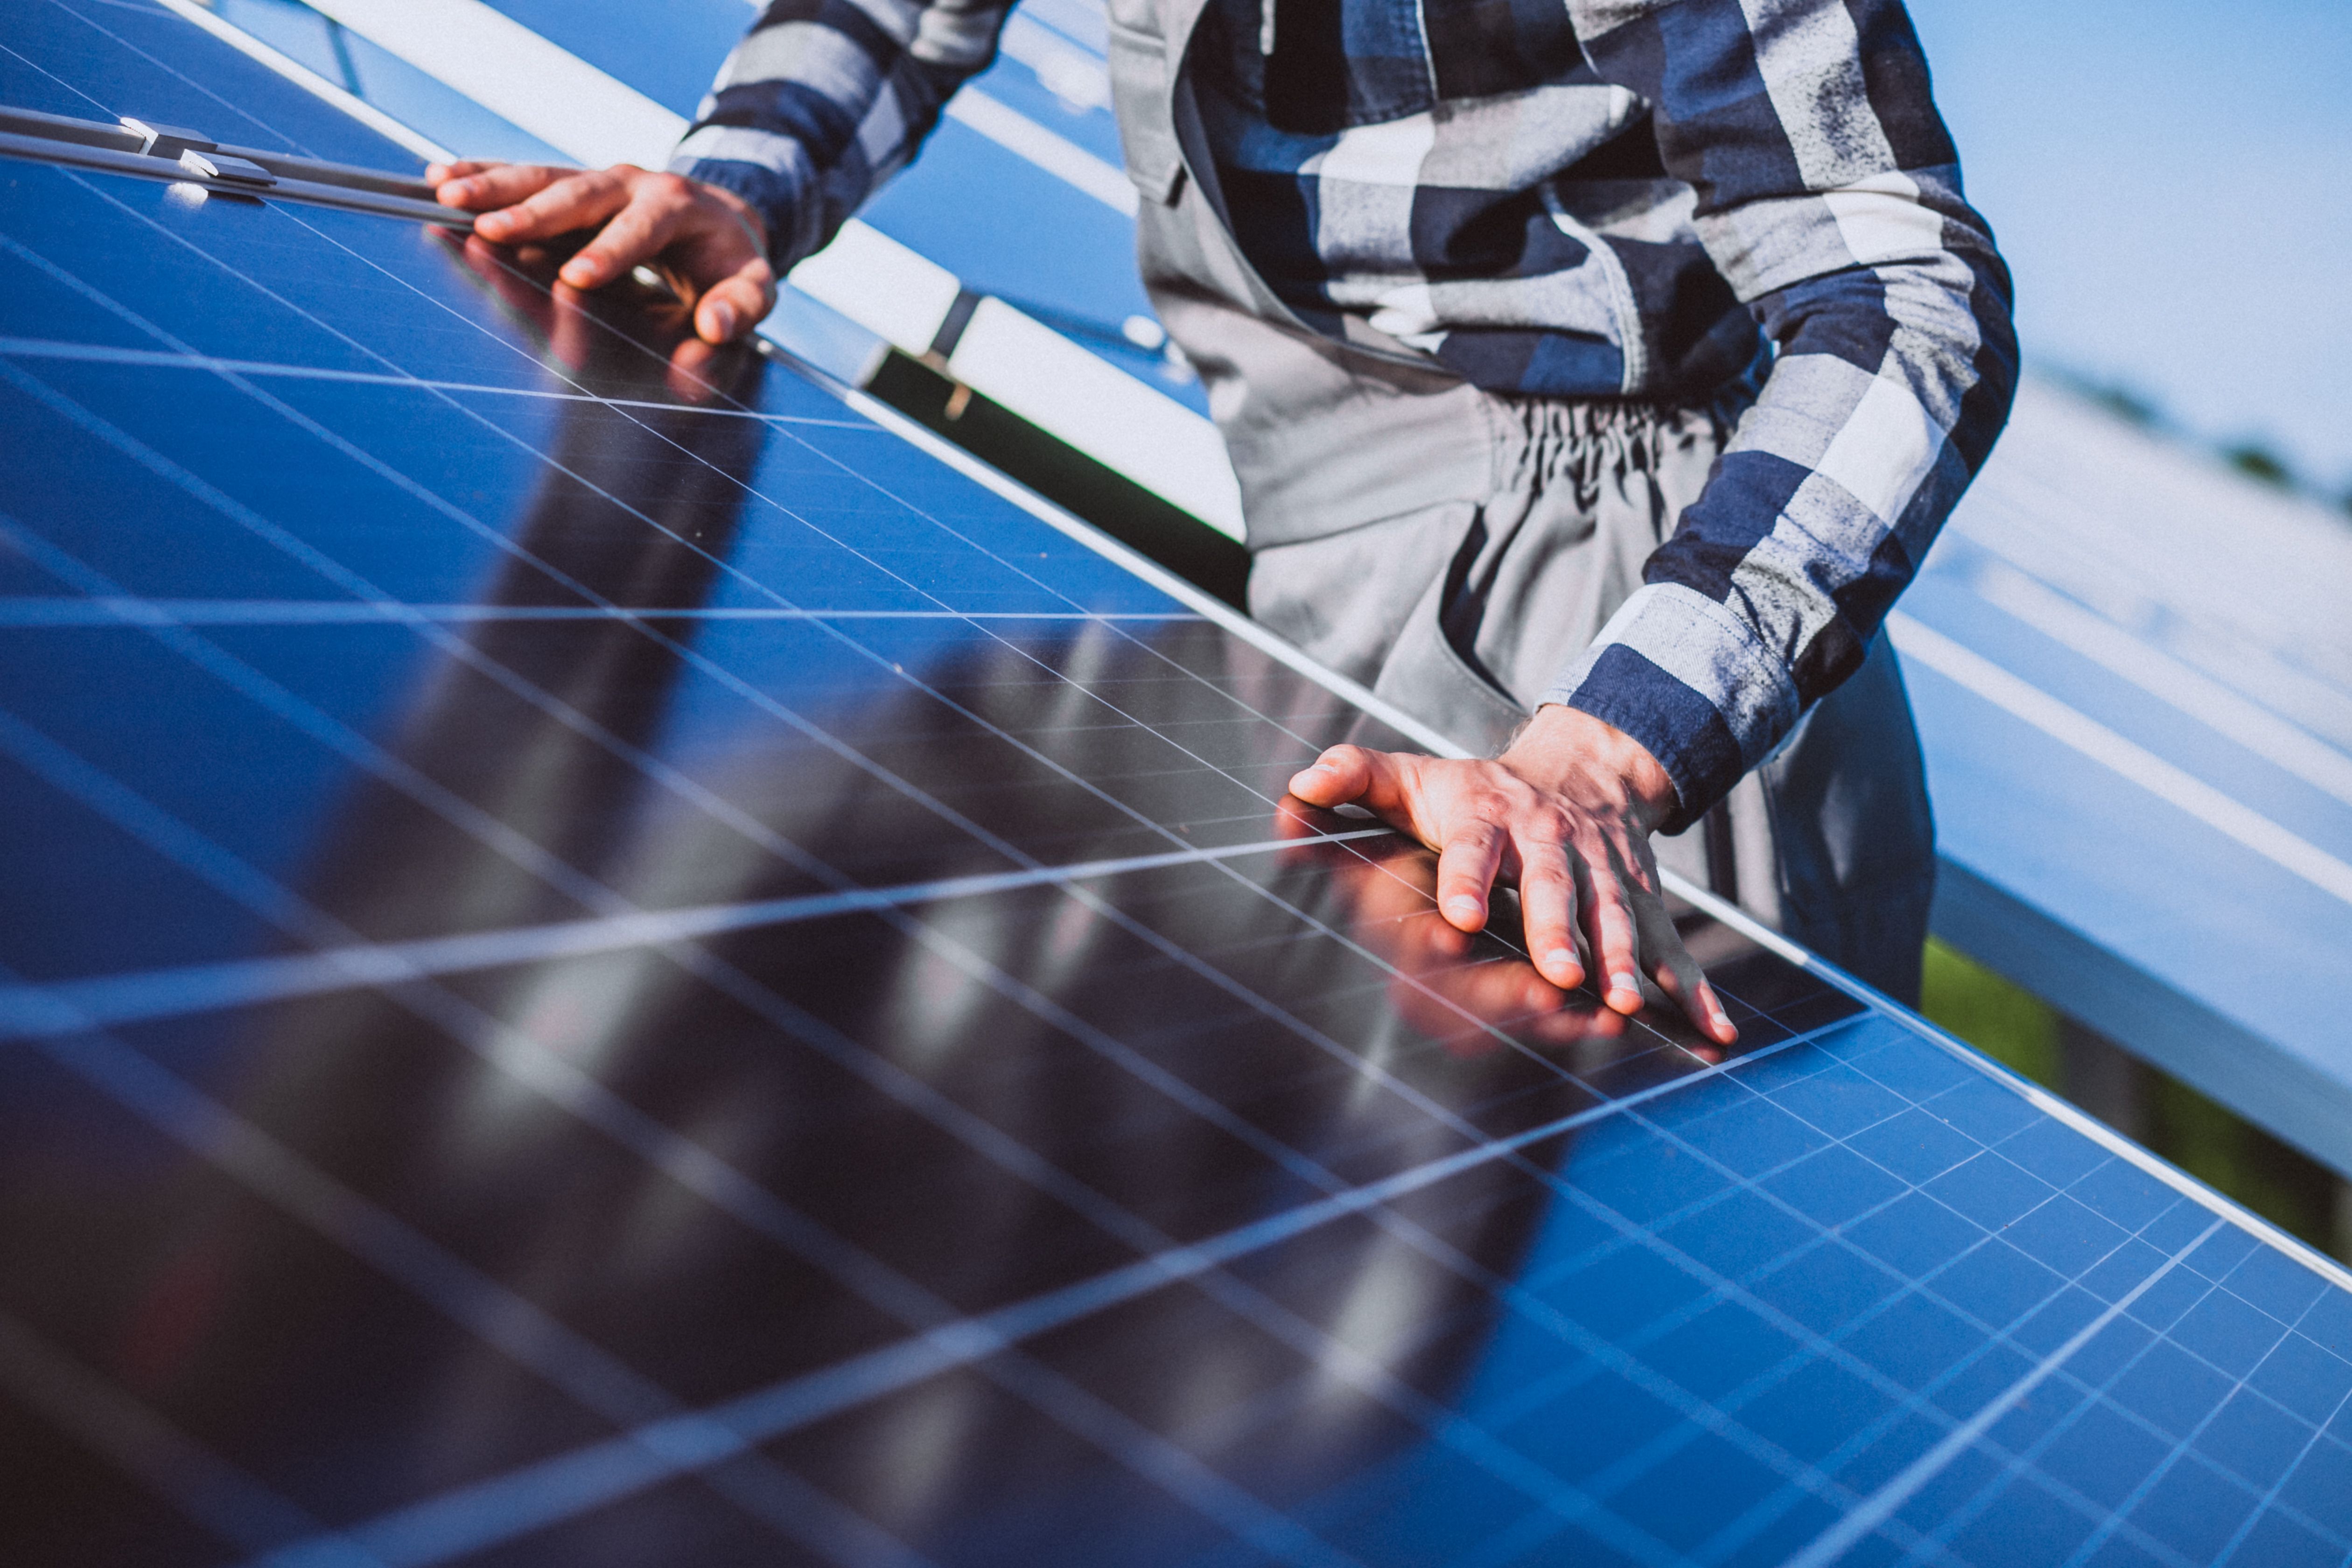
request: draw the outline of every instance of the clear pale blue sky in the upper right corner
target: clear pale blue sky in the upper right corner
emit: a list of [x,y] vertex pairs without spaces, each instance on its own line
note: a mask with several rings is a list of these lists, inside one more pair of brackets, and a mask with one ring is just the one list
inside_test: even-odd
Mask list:
[[1910,0],[2027,364],[2352,494],[2352,0]]

